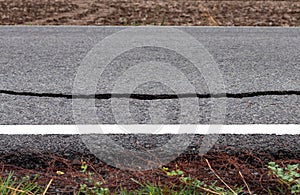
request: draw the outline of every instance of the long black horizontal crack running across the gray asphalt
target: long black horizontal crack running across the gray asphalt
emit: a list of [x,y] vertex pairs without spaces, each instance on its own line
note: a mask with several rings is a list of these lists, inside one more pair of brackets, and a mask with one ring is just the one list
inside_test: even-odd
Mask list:
[[16,96],[32,96],[32,97],[51,97],[51,98],[66,98],[66,99],[111,99],[111,98],[130,98],[138,100],[159,100],[159,99],[179,99],[179,98],[247,98],[257,96],[270,95],[300,95],[300,91],[256,91],[246,93],[217,93],[217,94],[63,94],[63,93],[35,93],[35,92],[17,92],[10,90],[0,90],[0,93]]

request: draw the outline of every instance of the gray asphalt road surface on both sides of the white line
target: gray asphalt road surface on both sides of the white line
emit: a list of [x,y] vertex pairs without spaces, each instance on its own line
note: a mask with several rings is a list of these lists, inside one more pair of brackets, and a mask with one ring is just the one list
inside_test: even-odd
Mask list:
[[[0,124],[300,123],[299,28],[176,27],[158,40],[151,35],[164,28],[129,29],[2,26]],[[195,64],[189,57],[198,54]],[[33,143],[57,150],[39,145],[43,139],[61,140],[61,148],[79,143],[76,136],[1,138],[10,150]],[[298,135],[220,139],[300,156]]]

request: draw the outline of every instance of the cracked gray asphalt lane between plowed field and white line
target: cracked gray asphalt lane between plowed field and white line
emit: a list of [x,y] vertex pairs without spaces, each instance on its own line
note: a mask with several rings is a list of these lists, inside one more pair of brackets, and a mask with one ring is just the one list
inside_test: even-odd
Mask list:
[[[75,79],[76,75],[80,74],[78,70],[82,66],[83,59],[105,37],[124,29],[124,27],[1,27],[0,123],[74,124],[73,110],[78,106],[72,106],[70,97],[74,87],[77,87]],[[153,28],[149,29],[151,31]],[[175,51],[153,46],[139,47],[123,52],[105,67],[97,78],[95,90],[91,91],[99,95],[92,102],[93,108],[96,108],[96,115],[87,115],[83,118],[79,116],[76,122],[209,124],[218,110],[226,112],[222,113],[224,115],[221,116],[224,117],[220,122],[222,124],[300,122],[299,28],[178,29],[197,39],[217,64],[220,73],[217,76],[221,75],[223,82],[219,98],[205,96],[218,93],[212,92],[213,89],[211,90],[209,86],[212,85],[209,82],[218,81],[215,78],[208,81],[210,78],[205,77],[210,73],[213,74],[212,72],[207,70],[197,72],[187,58]],[[152,31],[155,31],[155,28]],[[126,33],[118,35],[120,40],[128,39],[126,36]],[[143,36],[145,35],[142,33],[132,35],[134,39]],[[176,36],[178,35],[174,34],[172,37],[170,34],[169,39],[182,39],[183,44],[188,39]],[[117,50],[121,43],[115,43],[116,41],[111,41],[111,48],[107,49],[108,51]],[[190,48],[191,54],[194,50],[195,48]],[[103,53],[109,55],[105,51]],[[145,74],[137,76],[135,74],[148,70],[139,67],[130,72],[129,67],[148,61],[169,63],[178,71],[164,68],[169,66],[160,63],[153,68],[156,71],[156,78],[153,78],[153,81],[145,78],[144,83],[136,81],[132,84],[136,85],[130,86],[132,89],[125,86],[121,90],[113,91],[113,86],[121,82],[117,79],[125,77],[126,73],[125,82],[134,79],[143,81]],[[174,86],[168,86],[167,82],[167,84],[160,82],[159,78],[162,77],[168,78],[167,82],[171,84],[175,83],[177,89],[172,89]],[[185,85],[181,80],[176,83],[176,79],[187,79],[191,85],[189,83]],[[189,86],[194,88],[188,88]],[[109,96],[114,92],[117,94],[113,98],[103,95]],[[154,96],[134,99],[130,98],[132,93]],[[177,96],[185,94],[186,97],[178,99],[173,96],[155,96],[159,94]],[[195,97],[197,95],[199,97]],[[79,103],[85,104],[84,99],[89,98],[83,97]],[[116,113],[123,113],[125,107],[113,106],[112,109],[111,105],[115,102],[119,104],[127,102],[126,114],[130,116],[117,116],[116,119]],[[83,105],[80,109],[87,106]],[[197,108],[195,110],[197,113],[188,113],[188,109],[193,107]]]

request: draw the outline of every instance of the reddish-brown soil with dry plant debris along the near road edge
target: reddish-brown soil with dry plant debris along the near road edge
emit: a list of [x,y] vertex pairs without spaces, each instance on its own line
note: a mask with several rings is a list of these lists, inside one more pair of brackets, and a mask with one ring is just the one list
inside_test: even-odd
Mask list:
[[[93,156],[82,156],[88,164],[87,172],[93,172],[94,181],[102,181],[103,187],[107,187],[111,192],[120,190],[120,187],[127,190],[138,189],[138,181],[142,184],[146,182],[172,187],[180,184],[178,178],[167,177],[161,169],[148,171],[137,170],[120,170],[111,167]],[[87,174],[80,172],[81,159],[64,158],[53,154],[7,154],[0,157],[0,166],[2,171],[0,176],[7,175],[9,171],[14,171],[15,175],[24,177],[25,175],[34,177],[38,174],[40,177],[40,185],[46,186],[53,179],[53,183],[47,194],[73,194],[77,192],[80,184],[86,183],[84,178]],[[207,159],[215,171],[209,168]],[[206,184],[211,184],[217,181],[218,186],[226,188],[217,178],[218,174],[229,186],[245,186],[239,172],[249,185],[249,188],[255,194],[280,194],[278,187],[283,190],[284,194],[290,194],[290,190],[281,185],[275,176],[268,174],[267,164],[274,161],[281,167],[286,167],[288,164],[300,164],[300,160],[292,157],[270,156],[266,153],[254,154],[252,151],[239,151],[238,153],[228,154],[223,151],[208,153],[204,156],[196,154],[186,154],[179,156],[173,162],[165,165],[170,170],[174,170],[176,165],[185,172],[186,176],[197,178],[200,181],[205,181]],[[58,175],[57,171],[64,172],[64,175]],[[134,179],[134,180],[132,180]],[[245,187],[245,193],[248,194]]]

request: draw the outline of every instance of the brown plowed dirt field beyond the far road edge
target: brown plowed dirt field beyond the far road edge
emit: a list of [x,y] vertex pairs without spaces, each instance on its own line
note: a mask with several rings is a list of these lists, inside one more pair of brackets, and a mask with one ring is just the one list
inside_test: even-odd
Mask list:
[[0,0],[0,24],[300,26],[300,1]]

